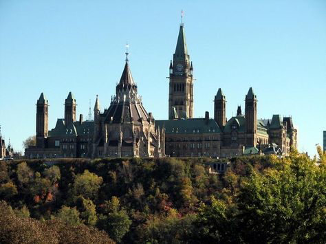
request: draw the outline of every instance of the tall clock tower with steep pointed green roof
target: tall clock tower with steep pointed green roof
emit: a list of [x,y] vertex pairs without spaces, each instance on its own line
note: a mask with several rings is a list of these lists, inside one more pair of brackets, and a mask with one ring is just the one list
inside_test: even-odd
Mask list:
[[183,23],[170,63],[169,78],[169,120],[193,118],[193,63],[188,55]]

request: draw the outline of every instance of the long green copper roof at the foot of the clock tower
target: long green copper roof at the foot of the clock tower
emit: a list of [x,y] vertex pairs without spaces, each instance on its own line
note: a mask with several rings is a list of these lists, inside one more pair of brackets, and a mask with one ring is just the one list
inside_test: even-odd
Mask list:
[[221,133],[213,119],[155,120],[155,126],[165,128],[166,134]]

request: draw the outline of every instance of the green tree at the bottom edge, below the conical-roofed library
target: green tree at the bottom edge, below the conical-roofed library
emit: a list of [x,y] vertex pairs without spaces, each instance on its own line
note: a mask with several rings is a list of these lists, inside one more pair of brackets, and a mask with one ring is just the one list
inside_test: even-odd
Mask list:
[[127,212],[120,208],[118,197],[112,197],[110,201],[105,201],[98,220],[100,229],[105,230],[114,241],[120,243],[124,234],[129,231],[130,225],[131,220]]

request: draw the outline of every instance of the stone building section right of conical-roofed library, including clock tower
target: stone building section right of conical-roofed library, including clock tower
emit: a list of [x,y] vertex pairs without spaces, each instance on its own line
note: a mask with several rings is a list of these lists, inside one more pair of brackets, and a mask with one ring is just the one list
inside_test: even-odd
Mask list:
[[[288,155],[296,148],[292,118],[273,115],[257,119],[257,95],[252,87],[245,97],[245,113],[226,119],[226,96],[221,88],[214,99],[214,119],[193,118],[193,63],[190,62],[184,24],[169,67],[169,120],[157,120],[165,129],[166,155],[171,157],[233,157],[276,152]],[[275,147],[276,146],[276,147]],[[275,154],[276,154],[275,153]]]

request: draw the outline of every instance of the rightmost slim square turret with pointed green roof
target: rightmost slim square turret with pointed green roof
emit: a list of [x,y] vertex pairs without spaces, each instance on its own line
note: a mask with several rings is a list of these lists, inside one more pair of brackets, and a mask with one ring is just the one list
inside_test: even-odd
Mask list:
[[245,107],[245,118],[246,118],[246,133],[247,133],[247,145],[256,146],[256,133],[257,133],[257,96],[250,87],[246,95],[246,107]]

